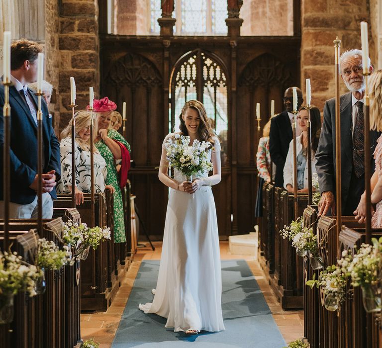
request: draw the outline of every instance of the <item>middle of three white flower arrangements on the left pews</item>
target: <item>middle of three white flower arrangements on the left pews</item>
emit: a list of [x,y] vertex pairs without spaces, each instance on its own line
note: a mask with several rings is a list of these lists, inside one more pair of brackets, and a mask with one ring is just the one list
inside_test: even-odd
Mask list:
[[60,269],[65,264],[73,264],[72,252],[68,246],[64,245],[63,250],[53,241],[40,238],[37,242],[35,265],[42,269]]

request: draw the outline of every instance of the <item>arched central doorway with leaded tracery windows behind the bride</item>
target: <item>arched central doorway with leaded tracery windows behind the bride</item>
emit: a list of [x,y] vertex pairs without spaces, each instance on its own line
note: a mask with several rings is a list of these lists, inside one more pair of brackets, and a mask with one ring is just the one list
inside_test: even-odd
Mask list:
[[[186,101],[203,102],[207,116],[221,144],[222,181],[213,187],[218,215],[219,234],[230,232],[231,202],[228,153],[228,89],[227,70],[214,54],[200,49],[183,55],[174,65],[171,78],[171,111],[169,132],[179,131],[182,107]],[[218,199],[218,197],[220,199]]]

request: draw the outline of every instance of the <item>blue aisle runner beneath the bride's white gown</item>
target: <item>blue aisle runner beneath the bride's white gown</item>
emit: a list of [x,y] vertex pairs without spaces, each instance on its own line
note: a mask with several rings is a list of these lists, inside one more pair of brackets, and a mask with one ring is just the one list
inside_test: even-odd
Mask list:
[[112,348],[282,348],[285,341],[244,260],[222,261],[222,308],[226,331],[185,336],[166,329],[166,319],[145,314],[139,303],[151,302],[159,261],[142,261]]

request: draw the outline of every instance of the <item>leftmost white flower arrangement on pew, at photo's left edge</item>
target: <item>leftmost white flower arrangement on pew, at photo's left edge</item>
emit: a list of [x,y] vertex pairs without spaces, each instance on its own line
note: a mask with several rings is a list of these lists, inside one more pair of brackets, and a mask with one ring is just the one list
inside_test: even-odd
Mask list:
[[0,297],[14,296],[18,291],[27,291],[30,297],[35,296],[36,280],[43,274],[35,265],[22,261],[16,252],[0,252]]

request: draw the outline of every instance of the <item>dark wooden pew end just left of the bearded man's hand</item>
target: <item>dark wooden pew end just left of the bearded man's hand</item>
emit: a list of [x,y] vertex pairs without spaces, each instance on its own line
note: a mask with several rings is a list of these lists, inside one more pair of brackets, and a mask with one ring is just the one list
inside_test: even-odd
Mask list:
[[[311,227],[317,233],[317,206],[308,205],[304,210],[304,226]],[[305,283],[307,280],[318,279],[319,270],[313,270],[309,264],[309,257],[304,257],[304,336],[311,348],[319,347],[318,307],[319,292],[316,287],[310,288]]]

